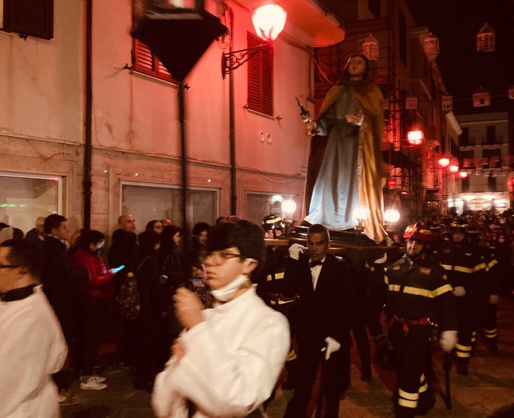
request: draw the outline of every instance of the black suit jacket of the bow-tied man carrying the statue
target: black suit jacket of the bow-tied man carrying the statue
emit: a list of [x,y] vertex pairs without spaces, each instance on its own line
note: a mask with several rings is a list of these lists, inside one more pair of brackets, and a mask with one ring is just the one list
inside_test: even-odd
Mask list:
[[346,261],[327,254],[316,284],[309,268],[309,257],[301,255],[290,263],[285,279],[300,293],[300,320],[297,340],[300,345],[322,346],[326,337],[350,347],[351,315],[355,309],[355,292]]

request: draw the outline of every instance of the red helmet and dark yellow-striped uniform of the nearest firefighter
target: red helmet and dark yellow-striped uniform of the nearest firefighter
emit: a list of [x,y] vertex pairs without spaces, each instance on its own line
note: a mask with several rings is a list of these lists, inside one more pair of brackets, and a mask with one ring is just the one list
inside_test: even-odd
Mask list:
[[[407,228],[404,237],[429,241],[430,231],[415,224]],[[423,253],[395,261],[384,282],[386,315],[391,321],[389,337],[396,356],[396,416],[413,417],[416,412],[426,413],[434,404],[426,379],[432,334],[429,316],[438,313],[443,332],[456,330],[453,288],[437,261]]]

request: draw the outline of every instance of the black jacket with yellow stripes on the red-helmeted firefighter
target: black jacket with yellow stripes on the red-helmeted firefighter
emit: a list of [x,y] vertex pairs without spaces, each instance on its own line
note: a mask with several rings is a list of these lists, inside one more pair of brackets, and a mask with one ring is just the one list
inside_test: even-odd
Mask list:
[[432,258],[422,256],[412,265],[400,258],[387,269],[384,282],[389,318],[417,320],[437,312],[440,329],[457,329],[453,288]]

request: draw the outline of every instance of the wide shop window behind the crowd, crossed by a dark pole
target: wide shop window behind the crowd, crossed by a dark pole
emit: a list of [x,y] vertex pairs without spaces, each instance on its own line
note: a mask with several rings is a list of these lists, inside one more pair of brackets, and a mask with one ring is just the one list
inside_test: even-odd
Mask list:
[[[121,213],[136,219],[138,232],[153,219],[168,218],[174,225],[182,224],[182,196],[178,186],[124,182],[121,186]],[[190,227],[196,222],[213,225],[217,214],[217,192],[213,189],[189,189],[187,213]]]

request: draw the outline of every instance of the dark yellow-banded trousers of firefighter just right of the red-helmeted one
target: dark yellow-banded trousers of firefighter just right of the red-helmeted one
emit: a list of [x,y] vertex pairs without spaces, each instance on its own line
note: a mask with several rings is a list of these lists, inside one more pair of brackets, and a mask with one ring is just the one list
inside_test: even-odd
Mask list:
[[471,357],[471,339],[478,321],[478,299],[472,293],[456,297],[458,343],[455,348],[458,363],[469,363]]

